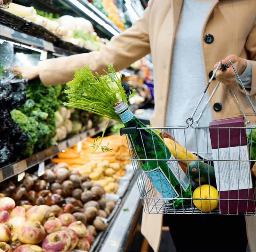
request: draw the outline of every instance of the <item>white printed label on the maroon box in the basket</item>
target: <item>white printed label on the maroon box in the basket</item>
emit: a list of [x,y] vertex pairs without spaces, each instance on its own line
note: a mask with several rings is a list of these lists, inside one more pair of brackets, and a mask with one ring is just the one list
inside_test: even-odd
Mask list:
[[220,148],[219,154],[218,149],[212,150],[213,159],[220,160],[213,161],[218,191],[228,191],[228,188],[229,190],[238,190],[238,184],[239,189],[248,189],[248,186],[249,188],[252,188],[250,162],[227,161],[249,160],[247,145],[241,146],[240,157],[239,148],[239,146],[230,148]]

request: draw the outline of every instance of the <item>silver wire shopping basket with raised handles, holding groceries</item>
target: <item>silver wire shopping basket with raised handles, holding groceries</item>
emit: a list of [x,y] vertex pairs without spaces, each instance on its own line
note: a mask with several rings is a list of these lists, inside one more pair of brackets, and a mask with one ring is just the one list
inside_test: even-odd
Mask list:
[[[214,78],[217,70],[220,68],[220,70],[225,70],[226,68],[229,67],[229,65],[232,65],[237,78],[239,79],[241,86],[245,92],[245,95],[247,96],[253,111],[256,115],[256,110],[253,107],[252,101],[250,100],[248,94],[246,93],[246,90],[244,88],[244,85],[241,81],[241,79],[239,78],[239,75],[233,65],[233,63],[231,61],[229,61],[229,64],[225,64],[223,65],[221,62],[218,64],[217,69],[214,71],[208,85],[205,88],[205,91],[203,93],[203,95],[201,96],[193,114],[191,115],[191,117],[189,117],[186,122],[187,122],[187,126],[185,127],[144,127],[144,128],[136,128],[136,129],[132,129],[132,128],[122,128],[120,130],[120,134],[126,134],[126,138],[127,138],[127,144],[129,146],[129,151],[130,151],[130,155],[131,155],[131,161],[132,161],[132,165],[133,165],[133,169],[134,169],[134,173],[135,173],[135,177],[136,177],[136,181],[137,181],[137,185],[139,187],[140,190],[140,199],[142,200],[142,204],[143,204],[143,209],[146,213],[155,213],[155,214],[159,214],[159,213],[170,213],[170,214],[234,214],[234,215],[256,215],[256,211],[255,211],[255,192],[254,192],[254,187],[253,184],[255,183],[255,178],[253,179],[252,175],[251,175],[251,168],[252,165],[255,163],[256,160],[252,160],[252,144],[249,144],[249,148],[247,147],[247,140],[245,145],[243,144],[244,142],[244,135],[245,137],[247,135],[249,135],[251,137],[251,139],[249,139],[250,137],[247,137],[249,142],[252,143],[253,142],[253,129],[256,129],[256,125],[252,125],[251,122],[249,122],[246,118],[246,115],[243,112],[242,107],[239,104],[239,101],[236,99],[236,96],[231,88],[231,86],[229,85],[229,88],[234,96],[234,98],[236,99],[236,102],[238,103],[238,106],[240,107],[243,115],[244,115],[244,119],[245,119],[245,124],[246,126],[244,127],[244,122],[243,122],[243,126],[239,126],[239,127],[220,127],[220,126],[209,126],[209,127],[199,127],[198,126],[198,120],[200,119],[202,113],[199,115],[199,117],[197,118],[197,120],[193,120],[193,116],[196,113],[196,110],[200,104],[200,102],[202,101],[204,94],[207,91],[208,86],[210,85],[212,79]],[[215,89],[213,90],[212,94],[210,95],[204,109],[206,108],[207,104],[209,103],[210,99],[212,98],[213,93],[216,91],[216,89],[218,88],[218,85],[220,83],[217,84],[217,86],[215,87]],[[204,111],[203,109],[203,111]],[[194,125],[193,125],[194,124]],[[147,176],[147,171],[145,172],[145,170],[142,169],[141,166],[141,162],[143,161],[144,163],[148,163],[151,161],[154,162],[160,162],[160,161],[165,161],[165,162],[170,162],[170,159],[167,158],[167,155],[164,159],[157,159],[157,155],[156,155],[156,159],[148,159],[147,158],[147,153],[146,153],[146,149],[145,149],[145,143],[143,142],[142,139],[142,134],[141,132],[143,130],[150,130],[151,132],[151,136],[152,136],[152,140],[153,140],[153,146],[154,146],[154,151],[156,153],[156,148],[155,148],[155,144],[154,144],[154,138],[153,138],[153,132],[154,130],[160,130],[160,132],[162,133],[162,135],[164,135],[164,132],[169,133],[170,135],[172,135],[173,139],[174,139],[174,145],[175,145],[175,160],[173,162],[176,163],[176,169],[177,169],[177,173],[178,174],[178,180],[180,183],[180,197],[174,197],[172,194],[172,197],[163,197],[164,192],[163,192],[163,188],[164,185],[163,184],[163,177],[161,180],[161,176],[159,173],[159,181],[161,184],[161,187],[159,187],[158,189],[156,189],[152,182],[150,181],[150,179]],[[133,132],[132,132],[133,131]],[[221,134],[223,132],[226,132],[226,135],[228,135],[228,146],[226,146],[223,149],[222,146],[222,142],[224,138],[221,138]],[[144,159],[140,159],[138,156],[138,153],[136,152],[136,148],[132,148],[134,147],[134,142],[131,140],[132,137],[132,133],[137,132],[139,136],[141,136],[141,142],[145,151],[145,155],[146,158]],[[193,132],[193,134],[191,134],[191,132]],[[213,133],[215,134],[213,134]],[[234,147],[234,132],[236,132],[236,135],[238,135],[238,137],[236,137],[236,142],[238,143],[235,147]],[[211,140],[213,139],[211,136],[211,133],[216,137],[217,142],[215,143],[215,147],[214,147],[214,151],[212,149],[212,145],[211,145]],[[246,135],[247,133],[247,135]],[[130,137],[129,137],[130,134]],[[128,137],[127,137],[128,136]],[[193,141],[189,141],[188,144],[188,138],[194,136],[194,142]],[[129,139],[130,140],[129,140]],[[192,137],[193,138],[193,137]],[[191,140],[191,139],[190,139]],[[250,141],[251,140],[251,141]],[[166,141],[166,140],[164,140]],[[212,140],[213,141],[213,140]],[[255,139],[256,142],[256,139]],[[186,157],[183,159],[179,159],[179,153],[177,151],[178,149],[178,143],[180,145],[182,145],[185,149],[186,149]],[[193,143],[193,144],[191,144]],[[227,143],[227,141],[226,141]],[[163,145],[164,147],[164,151],[166,153],[166,144]],[[235,149],[234,149],[235,148]],[[246,154],[246,150],[247,153],[250,154]],[[191,159],[188,156],[188,151],[193,152],[196,155],[196,158]],[[249,151],[249,152],[248,152]],[[200,160],[199,160],[200,159]],[[185,189],[182,189],[182,181],[180,179],[180,166],[179,163],[183,162],[186,163],[187,166],[191,163],[194,162],[198,163],[198,173],[199,173],[199,177],[197,182],[193,181],[191,176],[190,176],[190,172],[188,171],[187,174],[187,179],[188,179],[188,190],[190,192],[189,196],[187,196],[185,192]],[[203,198],[202,193],[200,192],[200,196],[198,197],[193,197],[193,191],[196,189],[196,187],[198,186],[203,186],[203,184],[205,184],[200,176],[200,169],[201,169],[201,173],[205,173],[205,170],[202,170],[203,168],[200,168],[199,162],[203,162],[204,163],[204,167],[205,165],[208,167],[207,170],[207,177],[206,180],[208,179],[208,184],[206,183],[207,187],[209,187],[209,193],[210,196],[209,198],[207,198],[207,200],[205,200],[205,198]],[[214,166],[214,175],[215,175],[215,187],[216,189],[218,189],[218,193],[217,193],[217,197],[215,196],[215,198],[211,197],[211,190],[210,190],[210,185],[212,185],[211,182],[211,178],[210,176],[212,176],[212,174],[210,174],[210,166]],[[191,166],[190,166],[191,167]],[[157,168],[159,170],[159,167]],[[149,174],[149,170],[148,170],[148,174]],[[159,171],[158,171],[159,172]],[[169,171],[170,173],[170,171]],[[167,178],[170,186],[172,184],[172,179],[169,175],[169,178]],[[214,183],[213,183],[214,184]],[[204,186],[205,187],[205,186]],[[162,196],[161,194],[161,190],[163,192]],[[186,191],[187,192],[187,191]],[[198,194],[197,194],[198,195]],[[175,206],[174,202],[177,200],[179,200],[181,203],[177,206]],[[195,206],[194,202],[196,202],[195,200],[197,200],[197,206],[198,206],[198,202],[200,204],[199,208]],[[212,201],[214,200],[214,201]],[[216,201],[218,203],[218,206],[214,209],[211,210],[211,205],[216,204]],[[207,211],[204,211],[204,204],[206,205],[210,204],[210,209]],[[203,205],[202,205],[203,204]]]

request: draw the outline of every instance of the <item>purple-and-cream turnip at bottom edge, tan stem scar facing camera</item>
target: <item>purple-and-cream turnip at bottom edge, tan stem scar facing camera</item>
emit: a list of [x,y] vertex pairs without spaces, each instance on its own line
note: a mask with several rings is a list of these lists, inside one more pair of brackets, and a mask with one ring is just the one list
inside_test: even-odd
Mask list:
[[70,243],[71,238],[68,233],[60,230],[48,234],[42,243],[42,248],[48,252],[68,251]]

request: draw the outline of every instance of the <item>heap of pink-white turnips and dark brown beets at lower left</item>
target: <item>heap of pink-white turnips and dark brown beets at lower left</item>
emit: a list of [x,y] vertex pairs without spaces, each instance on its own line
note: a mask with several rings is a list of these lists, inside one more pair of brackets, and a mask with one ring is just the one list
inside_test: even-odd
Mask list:
[[88,251],[116,204],[99,183],[63,163],[13,182],[3,182],[0,193],[4,251]]

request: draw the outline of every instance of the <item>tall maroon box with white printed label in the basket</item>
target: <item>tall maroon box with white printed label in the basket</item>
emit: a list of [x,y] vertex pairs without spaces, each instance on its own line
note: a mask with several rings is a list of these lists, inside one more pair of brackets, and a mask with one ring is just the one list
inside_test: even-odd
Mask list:
[[[244,127],[244,117],[235,117],[212,121],[209,127]],[[249,160],[248,146],[245,129],[209,129],[213,159]],[[219,134],[219,141],[218,141]],[[229,140],[230,136],[230,140]],[[241,136],[241,138],[240,138]],[[218,151],[219,144],[219,151]],[[240,146],[241,145],[241,146]],[[239,147],[240,146],[240,147]],[[241,149],[241,150],[240,150]],[[240,150],[240,153],[239,153]],[[249,162],[213,161],[216,176],[217,189],[220,199],[254,199],[252,190],[252,178]],[[220,166],[220,178],[218,173]],[[240,167],[240,170],[239,170]],[[229,169],[229,172],[228,172]],[[229,180],[229,181],[228,181]],[[239,180],[239,198],[238,198]],[[228,197],[229,187],[229,197]],[[248,189],[250,187],[250,189]],[[247,209],[248,202],[248,209]],[[220,212],[222,214],[255,211],[254,201],[220,200]]]

